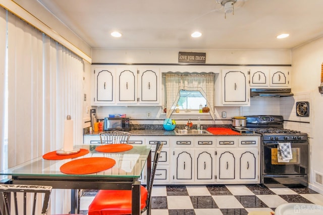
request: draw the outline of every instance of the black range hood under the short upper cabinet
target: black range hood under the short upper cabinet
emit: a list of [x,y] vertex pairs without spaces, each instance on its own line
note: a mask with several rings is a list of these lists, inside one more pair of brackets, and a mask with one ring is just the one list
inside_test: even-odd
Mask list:
[[286,96],[294,96],[291,92],[290,88],[251,88],[250,89],[250,97],[286,97]]

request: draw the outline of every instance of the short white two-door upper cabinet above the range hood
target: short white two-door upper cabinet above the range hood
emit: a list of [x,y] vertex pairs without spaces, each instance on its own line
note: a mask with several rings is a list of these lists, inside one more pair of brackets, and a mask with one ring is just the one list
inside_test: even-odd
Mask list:
[[289,87],[289,69],[252,68],[250,69],[250,87],[275,88]]

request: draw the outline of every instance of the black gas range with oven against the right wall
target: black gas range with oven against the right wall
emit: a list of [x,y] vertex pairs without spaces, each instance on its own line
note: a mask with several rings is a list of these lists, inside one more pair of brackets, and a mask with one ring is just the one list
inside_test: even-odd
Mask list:
[[[283,116],[245,116],[246,127],[261,134],[261,183],[267,187],[308,186],[307,133],[284,128]],[[280,145],[289,145],[292,159],[280,159]]]

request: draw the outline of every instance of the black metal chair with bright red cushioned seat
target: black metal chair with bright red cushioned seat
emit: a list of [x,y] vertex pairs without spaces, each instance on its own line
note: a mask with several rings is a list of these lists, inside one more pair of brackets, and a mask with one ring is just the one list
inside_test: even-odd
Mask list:
[[[147,211],[147,215],[151,214],[152,184],[163,145],[157,141],[149,186],[140,188],[141,213]],[[88,214],[131,214],[131,211],[131,190],[99,190],[89,205]]]

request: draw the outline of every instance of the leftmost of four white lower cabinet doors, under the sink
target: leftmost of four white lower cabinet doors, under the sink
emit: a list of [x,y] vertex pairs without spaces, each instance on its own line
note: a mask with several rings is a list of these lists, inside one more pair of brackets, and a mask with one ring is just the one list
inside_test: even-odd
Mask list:
[[174,150],[174,181],[194,181],[194,150]]

